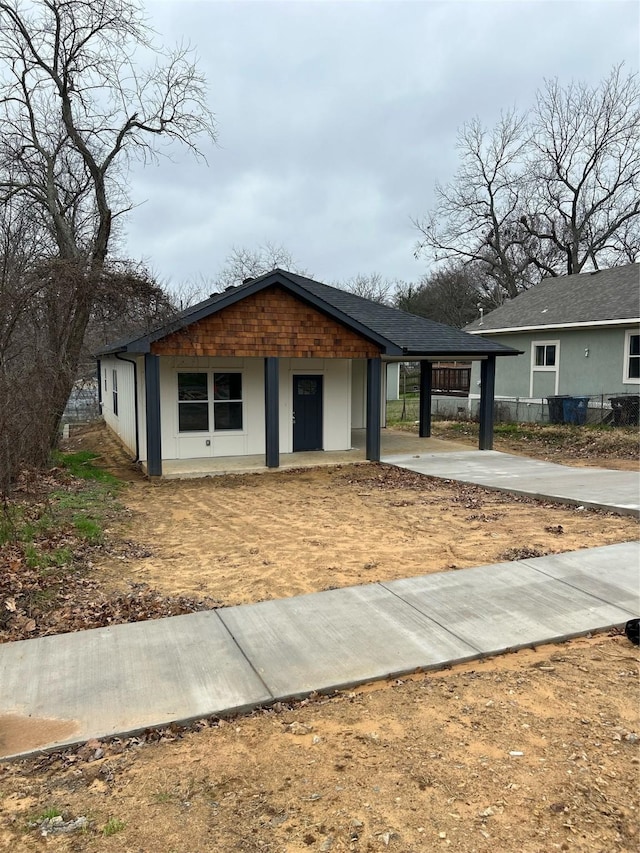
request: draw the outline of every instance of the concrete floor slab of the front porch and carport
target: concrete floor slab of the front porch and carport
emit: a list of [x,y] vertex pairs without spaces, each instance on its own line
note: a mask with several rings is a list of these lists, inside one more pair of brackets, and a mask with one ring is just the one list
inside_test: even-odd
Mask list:
[[[351,450],[315,450],[300,453],[281,453],[281,469],[316,468],[326,465],[353,465],[367,461],[365,429],[351,430]],[[474,450],[471,444],[425,438],[402,430],[383,429],[380,433],[380,458],[402,453],[447,453]],[[146,463],[143,470],[147,473]],[[251,456],[216,456],[199,459],[168,459],[163,462],[162,476],[167,480],[189,480],[223,474],[259,474],[269,471],[263,453]]]

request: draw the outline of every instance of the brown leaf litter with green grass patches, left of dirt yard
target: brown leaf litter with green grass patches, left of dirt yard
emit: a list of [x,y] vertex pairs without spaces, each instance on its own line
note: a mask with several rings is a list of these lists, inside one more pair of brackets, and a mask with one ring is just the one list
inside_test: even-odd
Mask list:
[[[139,583],[130,583],[126,593],[105,591],[92,575],[94,560],[105,554],[140,558],[148,552],[130,541],[109,542],[100,533],[87,538],[82,535],[78,514],[60,509],[69,502],[82,504],[83,493],[93,488],[63,469],[29,472],[21,478],[11,501],[0,509],[4,519],[0,528],[4,531],[0,539],[0,642],[178,616],[216,606],[210,599],[162,595]],[[108,496],[101,495],[101,499],[106,501],[107,515],[124,511]],[[101,511],[104,515],[104,508]]]

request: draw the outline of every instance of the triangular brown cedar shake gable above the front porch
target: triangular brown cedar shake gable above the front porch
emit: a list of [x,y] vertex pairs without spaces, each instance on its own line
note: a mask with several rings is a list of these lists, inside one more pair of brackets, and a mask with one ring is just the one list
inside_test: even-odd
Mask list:
[[375,358],[366,340],[277,285],[151,343],[154,355]]

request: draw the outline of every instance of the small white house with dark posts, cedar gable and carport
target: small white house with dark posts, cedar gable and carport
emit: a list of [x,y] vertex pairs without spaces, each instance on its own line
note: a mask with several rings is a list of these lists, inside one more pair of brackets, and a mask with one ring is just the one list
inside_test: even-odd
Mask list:
[[280,269],[183,311],[151,334],[98,354],[108,426],[150,476],[164,460],[348,450],[366,428],[380,458],[383,366],[420,361],[420,434],[430,434],[431,363],[480,359],[480,447],[493,438],[496,357],[466,334]]

